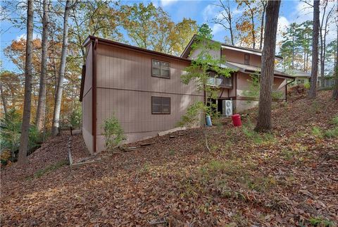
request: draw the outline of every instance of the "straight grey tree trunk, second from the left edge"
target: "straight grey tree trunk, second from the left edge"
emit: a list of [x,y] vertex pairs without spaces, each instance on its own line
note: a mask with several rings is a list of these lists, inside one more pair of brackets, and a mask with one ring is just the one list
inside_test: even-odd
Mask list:
[[49,1],[44,0],[44,16],[42,17],[42,56],[40,70],[39,99],[37,102],[37,129],[41,132],[44,129],[46,116],[46,73],[47,73],[47,46],[48,46],[48,6]]

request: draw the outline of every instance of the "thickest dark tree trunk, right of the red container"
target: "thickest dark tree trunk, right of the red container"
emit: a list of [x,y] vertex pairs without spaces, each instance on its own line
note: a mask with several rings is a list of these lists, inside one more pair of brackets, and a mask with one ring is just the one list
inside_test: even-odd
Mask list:
[[266,6],[264,46],[262,53],[261,90],[259,95],[258,120],[255,130],[265,132],[271,130],[271,104],[273,90],[273,74],[275,70],[275,51],[277,23],[280,13],[280,1],[268,1]]

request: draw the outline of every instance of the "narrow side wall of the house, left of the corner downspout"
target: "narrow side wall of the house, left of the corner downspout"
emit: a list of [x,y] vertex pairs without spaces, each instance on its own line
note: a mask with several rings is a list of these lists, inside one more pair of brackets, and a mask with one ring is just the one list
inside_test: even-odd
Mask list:
[[89,149],[93,152],[92,135],[92,72],[93,72],[93,52],[92,44],[89,44],[86,59],[86,75],[84,80],[84,90],[82,97],[82,137]]

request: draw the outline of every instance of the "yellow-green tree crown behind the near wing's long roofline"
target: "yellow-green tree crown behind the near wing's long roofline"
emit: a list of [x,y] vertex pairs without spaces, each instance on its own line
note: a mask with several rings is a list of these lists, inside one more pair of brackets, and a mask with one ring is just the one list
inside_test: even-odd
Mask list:
[[156,8],[152,3],[123,5],[120,9],[123,28],[137,47],[180,55],[182,45],[196,32],[195,20],[184,18],[175,24],[163,8]]

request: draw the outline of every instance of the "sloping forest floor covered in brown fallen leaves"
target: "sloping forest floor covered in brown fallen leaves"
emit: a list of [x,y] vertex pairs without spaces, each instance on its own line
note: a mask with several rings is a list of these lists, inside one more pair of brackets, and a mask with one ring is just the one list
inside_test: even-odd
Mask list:
[[[69,135],[53,138],[27,166],[1,170],[1,226],[337,226],[338,102],[330,95],[276,104],[271,134],[253,132],[256,109],[241,128],[215,125],[211,152],[192,129],[71,169]],[[81,135],[72,151],[87,156]]]

